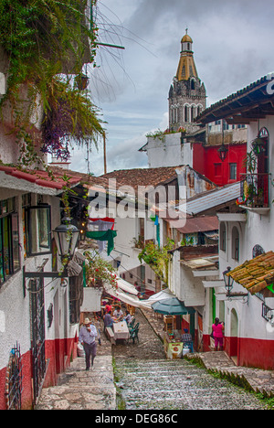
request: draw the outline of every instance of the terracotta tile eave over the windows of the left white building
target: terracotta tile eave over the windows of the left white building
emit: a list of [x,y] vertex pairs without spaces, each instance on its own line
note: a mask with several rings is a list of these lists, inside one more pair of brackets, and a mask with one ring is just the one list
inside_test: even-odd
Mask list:
[[[71,176],[68,171],[62,170],[62,173],[54,173],[54,177],[50,177],[47,171],[25,169],[24,171],[16,168],[15,166],[0,165],[0,171],[5,172],[6,175],[26,180],[34,183],[37,186],[50,187],[61,190],[64,186],[76,186],[81,177],[79,175]],[[68,177],[68,182],[64,180],[64,174]]]

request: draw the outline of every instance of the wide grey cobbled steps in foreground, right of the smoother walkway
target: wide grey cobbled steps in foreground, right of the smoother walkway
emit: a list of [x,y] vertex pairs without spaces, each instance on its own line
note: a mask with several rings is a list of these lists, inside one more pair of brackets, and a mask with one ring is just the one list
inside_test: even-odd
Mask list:
[[187,360],[116,359],[115,375],[127,410],[258,410],[264,404]]

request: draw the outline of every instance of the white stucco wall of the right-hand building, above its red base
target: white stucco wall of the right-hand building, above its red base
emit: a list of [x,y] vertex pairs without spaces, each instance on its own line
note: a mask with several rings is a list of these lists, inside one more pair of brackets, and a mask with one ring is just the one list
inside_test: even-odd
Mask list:
[[[269,131],[269,212],[264,215],[247,210],[247,221],[229,221],[227,225],[227,251],[219,251],[219,272],[220,278],[222,273],[231,266],[232,269],[237,265],[251,260],[253,257],[252,251],[255,245],[260,245],[264,251],[274,250],[274,208],[273,199],[274,191],[271,185],[271,177],[274,174],[274,120],[273,116],[268,116],[265,120],[259,121],[259,127],[266,127]],[[258,123],[250,123],[248,126],[248,152],[251,151],[251,142],[258,135]],[[233,227],[239,230],[239,261],[235,261],[231,257],[231,230]],[[245,293],[245,289],[240,285],[234,283],[233,292]],[[273,294],[274,296],[274,294]],[[274,301],[274,297],[270,299]],[[246,301],[246,299],[245,299]],[[274,305],[273,305],[274,307]],[[238,337],[251,337],[254,339],[274,339],[273,328],[269,328],[269,323],[261,316],[262,300],[256,295],[248,294],[248,303],[244,303],[242,299],[232,299],[226,301],[226,335],[234,336],[233,332],[233,316],[232,311],[235,310],[238,319]]]

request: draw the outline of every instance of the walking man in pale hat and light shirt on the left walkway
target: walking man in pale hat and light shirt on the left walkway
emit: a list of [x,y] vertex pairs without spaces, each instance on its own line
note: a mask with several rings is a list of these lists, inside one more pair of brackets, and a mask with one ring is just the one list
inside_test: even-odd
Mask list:
[[91,358],[91,369],[93,369],[94,358],[97,353],[97,343],[95,337],[98,336],[96,326],[90,324],[90,319],[86,318],[84,326],[79,332],[79,342],[85,349],[86,354],[86,370],[90,370],[90,358]]

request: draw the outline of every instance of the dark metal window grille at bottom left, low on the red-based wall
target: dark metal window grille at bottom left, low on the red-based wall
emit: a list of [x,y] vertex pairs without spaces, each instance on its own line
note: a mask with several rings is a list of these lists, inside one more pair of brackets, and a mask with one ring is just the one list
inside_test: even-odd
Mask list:
[[5,378],[5,396],[8,410],[21,410],[23,392],[23,364],[21,350],[16,343],[10,353]]

